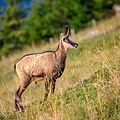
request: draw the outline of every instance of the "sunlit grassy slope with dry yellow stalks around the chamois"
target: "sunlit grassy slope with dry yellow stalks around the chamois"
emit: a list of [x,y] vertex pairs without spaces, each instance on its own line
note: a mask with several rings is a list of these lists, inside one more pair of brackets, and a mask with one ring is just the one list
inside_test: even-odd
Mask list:
[[[57,80],[55,95],[44,105],[41,104],[44,82],[37,86],[32,83],[28,87],[23,94],[25,113],[13,112],[14,92],[19,83],[12,70],[13,65],[25,53],[54,49],[56,45],[46,45],[44,48],[32,46],[32,49],[17,51],[17,54],[1,62],[0,119],[120,119],[119,19],[103,21],[97,27],[78,33],[73,39],[79,40],[95,29],[99,29],[101,35],[78,41],[79,48],[69,51],[66,70]],[[80,82],[86,77],[86,81]]]

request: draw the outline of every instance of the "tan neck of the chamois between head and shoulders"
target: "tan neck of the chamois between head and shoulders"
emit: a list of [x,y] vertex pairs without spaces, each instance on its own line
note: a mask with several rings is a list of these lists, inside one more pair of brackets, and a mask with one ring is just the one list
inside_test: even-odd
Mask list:
[[58,60],[60,60],[60,61],[63,61],[66,58],[67,51],[65,50],[65,48],[64,48],[63,44],[61,43],[61,41],[58,44],[58,48],[57,48],[55,54],[56,54]]

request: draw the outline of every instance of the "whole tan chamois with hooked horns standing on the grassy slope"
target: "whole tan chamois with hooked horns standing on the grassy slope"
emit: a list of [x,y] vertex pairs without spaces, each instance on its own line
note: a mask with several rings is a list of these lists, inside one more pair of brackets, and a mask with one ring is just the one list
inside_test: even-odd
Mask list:
[[[77,48],[78,44],[69,39],[70,27],[67,33],[60,34],[60,41],[56,51],[45,51],[23,56],[14,66],[20,80],[20,85],[15,94],[15,109],[24,111],[21,96],[27,86],[36,78],[45,80],[44,101],[48,94],[54,93],[56,79],[61,77],[66,64],[67,51],[69,48]],[[37,79],[38,80],[38,79]]]

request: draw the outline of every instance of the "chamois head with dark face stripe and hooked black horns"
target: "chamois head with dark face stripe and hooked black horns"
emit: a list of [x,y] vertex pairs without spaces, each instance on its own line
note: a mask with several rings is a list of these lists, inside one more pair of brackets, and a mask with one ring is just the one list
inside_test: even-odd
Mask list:
[[66,25],[65,28],[67,29],[67,33],[61,33],[60,34],[60,42],[62,43],[63,47],[67,51],[69,48],[77,48],[78,44],[70,40],[70,27],[69,25]]

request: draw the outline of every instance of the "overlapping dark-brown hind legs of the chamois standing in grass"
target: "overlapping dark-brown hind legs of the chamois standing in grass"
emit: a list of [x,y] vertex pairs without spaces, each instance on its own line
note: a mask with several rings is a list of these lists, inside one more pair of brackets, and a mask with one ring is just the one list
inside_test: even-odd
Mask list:
[[15,94],[15,109],[16,110],[24,111],[21,96],[30,83],[31,83],[31,78],[29,76],[20,78],[20,85]]

